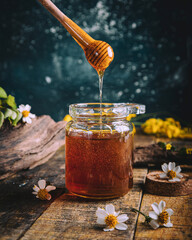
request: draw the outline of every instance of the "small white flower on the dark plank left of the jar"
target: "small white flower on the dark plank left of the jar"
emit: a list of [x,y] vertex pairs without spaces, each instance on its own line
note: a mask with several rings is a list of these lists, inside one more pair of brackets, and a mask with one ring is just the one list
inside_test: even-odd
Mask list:
[[36,198],[40,198],[41,200],[50,200],[51,199],[51,195],[48,193],[52,190],[55,190],[56,187],[55,186],[50,186],[48,185],[46,186],[46,181],[44,179],[39,180],[38,181],[38,186],[34,185],[33,190],[35,192],[32,192],[33,194],[36,195]]

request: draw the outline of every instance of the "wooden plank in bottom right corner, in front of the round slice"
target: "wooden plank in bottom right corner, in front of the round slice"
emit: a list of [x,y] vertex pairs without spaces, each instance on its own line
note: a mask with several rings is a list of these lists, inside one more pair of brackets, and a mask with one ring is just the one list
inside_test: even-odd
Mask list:
[[[187,173],[192,176],[192,173]],[[191,240],[192,239],[192,194],[180,197],[162,197],[144,194],[140,211],[148,214],[152,211],[151,204],[166,202],[166,208],[172,208],[174,214],[171,216],[172,228],[161,227],[153,230],[144,223],[142,215],[138,218],[135,240]]]

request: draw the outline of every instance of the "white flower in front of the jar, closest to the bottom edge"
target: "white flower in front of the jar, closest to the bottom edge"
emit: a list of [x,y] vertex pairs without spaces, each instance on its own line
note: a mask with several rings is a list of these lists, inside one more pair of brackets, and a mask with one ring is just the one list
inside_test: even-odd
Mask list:
[[113,204],[108,204],[105,207],[105,210],[102,208],[97,209],[97,223],[101,225],[107,225],[107,228],[104,228],[104,231],[113,231],[114,228],[118,230],[127,230],[127,225],[123,222],[127,221],[129,218],[127,214],[121,214],[120,212],[115,212],[115,207]]

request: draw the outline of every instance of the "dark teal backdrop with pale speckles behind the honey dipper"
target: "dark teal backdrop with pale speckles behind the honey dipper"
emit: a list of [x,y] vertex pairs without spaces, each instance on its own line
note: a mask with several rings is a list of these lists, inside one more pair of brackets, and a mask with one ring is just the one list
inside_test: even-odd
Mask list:
[[[115,59],[104,102],[139,102],[147,112],[191,121],[192,1],[55,0]],[[32,113],[61,120],[76,102],[99,101],[98,77],[82,49],[36,0],[1,0],[0,85]]]

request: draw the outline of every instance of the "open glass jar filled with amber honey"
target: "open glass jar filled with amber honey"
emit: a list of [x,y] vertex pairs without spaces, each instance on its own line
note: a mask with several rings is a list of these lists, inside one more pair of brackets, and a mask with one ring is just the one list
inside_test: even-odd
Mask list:
[[66,188],[86,198],[125,195],[133,185],[133,125],[129,114],[145,112],[130,103],[79,103],[69,106],[66,126]]

